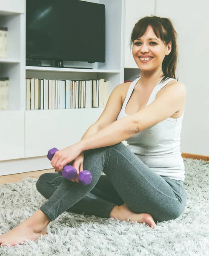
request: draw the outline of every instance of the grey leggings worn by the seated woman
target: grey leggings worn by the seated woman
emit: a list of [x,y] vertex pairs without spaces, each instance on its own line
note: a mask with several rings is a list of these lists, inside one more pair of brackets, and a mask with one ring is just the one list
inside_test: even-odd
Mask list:
[[124,203],[155,222],[176,219],[185,209],[183,181],[153,172],[123,143],[84,151],[83,170],[92,174],[86,186],[58,172],[40,175],[37,190],[49,199],[40,210],[51,221],[65,211],[109,218],[112,208]]

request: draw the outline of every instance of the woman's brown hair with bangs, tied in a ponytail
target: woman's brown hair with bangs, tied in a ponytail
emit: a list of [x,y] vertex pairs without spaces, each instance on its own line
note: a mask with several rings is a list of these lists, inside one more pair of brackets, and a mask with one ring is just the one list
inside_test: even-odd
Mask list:
[[[144,35],[148,26],[152,26],[152,29],[157,36],[160,38],[165,45],[168,45],[169,42],[172,42],[172,50],[169,55],[165,55],[162,63],[163,77],[162,81],[165,81],[167,78],[175,77],[175,70],[177,66],[177,57],[178,49],[176,36],[178,35],[175,31],[172,21],[169,18],[158,17],[155,15],[146,16],[141,18],[134,26],[131,34],[130,47],[132,47],[133,42]],[[178,81],[178,79],[177,79]]]

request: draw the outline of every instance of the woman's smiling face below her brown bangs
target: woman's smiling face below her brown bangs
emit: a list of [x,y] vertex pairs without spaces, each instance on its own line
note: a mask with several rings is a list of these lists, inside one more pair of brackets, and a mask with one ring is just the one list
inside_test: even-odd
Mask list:
[[[150,38],[154,38],[150,40]],[[134,41],[132,54],[140,70],[151,71],[157,67],[162,68],[165,55],[171,52],[171,42],[168,46],[163,44],[160,38],[157,38],[152,27],[148,26],[145,34]],[[148,61],[140,60],[140,56],[147,55],[152,57]]]

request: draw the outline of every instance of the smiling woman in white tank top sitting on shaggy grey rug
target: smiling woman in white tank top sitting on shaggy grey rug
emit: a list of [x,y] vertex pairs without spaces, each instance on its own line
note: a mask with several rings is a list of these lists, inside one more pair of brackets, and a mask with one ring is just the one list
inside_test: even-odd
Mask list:
[[[3,246],[46,235],[50,221],[64,211],[145,222],[153,228],[157,221],[182,214],[186,191],[180,130],[186,87],[175,79],[176,32],[169,19],[152,15],[135,24],[130,43],[141,76],[117,85],[82,139],[54,154],[56,171],[71,163],[77,176],[41,175],[37,189],[49,200],[0,236]],[[78,184],[83,169],[92,174],[86,186]]]

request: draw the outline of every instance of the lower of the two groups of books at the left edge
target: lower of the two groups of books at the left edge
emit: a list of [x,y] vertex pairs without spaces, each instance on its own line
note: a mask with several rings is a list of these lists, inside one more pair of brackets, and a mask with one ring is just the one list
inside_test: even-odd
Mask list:
[[9,108],[9,77],[0,77],[0,110]]

